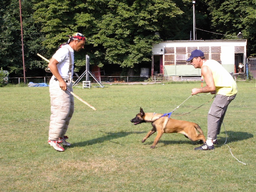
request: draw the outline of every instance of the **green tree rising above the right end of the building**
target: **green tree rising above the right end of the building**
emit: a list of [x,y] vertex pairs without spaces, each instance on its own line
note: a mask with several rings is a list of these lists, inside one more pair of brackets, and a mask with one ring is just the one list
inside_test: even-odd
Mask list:
[[[256,55],[256,0],[208,1],[212,28],[220,39],[234,39],[238,32],[248,40],[247,55]],[[235,37],[236,38],[236,37]]]

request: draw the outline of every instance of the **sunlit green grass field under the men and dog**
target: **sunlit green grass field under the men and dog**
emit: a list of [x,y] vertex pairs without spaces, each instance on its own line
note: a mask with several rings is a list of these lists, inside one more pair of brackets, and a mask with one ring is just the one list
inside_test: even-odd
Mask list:
[[[140,107],[171,112],[200,82],[74,87],[97,110],[75,98],[67,132],[72,145],[64,152],[47,143],[49,87],[2,87],[0,191],[255,191],[256,88],[237,85],[224,119],[226,144],[246,165],[224,145],[223,127],[211,151],[195,151],[199,145],[177,133],[164,134],[155,149],[150,146],[156,133],[141,143],[151,124],[130,122]],[[211,99],[194,95],[171,118],[199,124],[206,136]]]

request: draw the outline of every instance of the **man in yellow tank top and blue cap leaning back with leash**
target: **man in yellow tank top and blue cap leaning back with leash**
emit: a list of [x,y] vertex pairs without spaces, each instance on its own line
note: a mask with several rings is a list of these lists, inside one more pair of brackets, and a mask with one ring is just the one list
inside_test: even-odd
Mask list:
[[192,89],[191,95],[216,93],[207,116],[207,140],[202,146],[195,148],[195,150],[211,150],[214,149],[214,144],[218,144],[217,135],[220,134],[220,127],[228,105],[236,97],[236,82],[219,62],[206,60],[204,53],[200,50],[192,51],[187,62],[190,62],[194,68],[201,68],[201,73],[206,83],[206,86],[202,88]]

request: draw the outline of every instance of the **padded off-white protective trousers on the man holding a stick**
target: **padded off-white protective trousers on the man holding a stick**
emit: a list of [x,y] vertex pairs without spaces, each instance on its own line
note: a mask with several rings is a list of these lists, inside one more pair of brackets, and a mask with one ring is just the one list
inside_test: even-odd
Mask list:
[[[67,83],[67,89],[71,92],[72,82]],[[74,113],[74,96],[68,90],[60,89],[59,81],[52,76],[49,84],[51,97],[51,117],[49,126],[49,140],[59,140],[67,130],[69,121]]]

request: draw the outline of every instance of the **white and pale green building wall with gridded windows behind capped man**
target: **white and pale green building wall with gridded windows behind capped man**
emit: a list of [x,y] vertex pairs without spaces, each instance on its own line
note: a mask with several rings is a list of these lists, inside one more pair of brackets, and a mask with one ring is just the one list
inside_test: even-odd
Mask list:
[[235,73],[235,54],[244,55],[246,62],[247,40],[199,40],[199,41],[164,41],[153,44],[153,55],[163,55],[164,75],[167,76],[201,76],[201,69],[195,69],[186,62],[195,49],[204,52],[206,59],[217,60],[228,70]]

